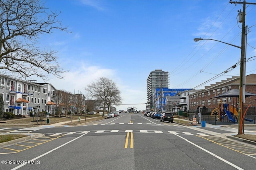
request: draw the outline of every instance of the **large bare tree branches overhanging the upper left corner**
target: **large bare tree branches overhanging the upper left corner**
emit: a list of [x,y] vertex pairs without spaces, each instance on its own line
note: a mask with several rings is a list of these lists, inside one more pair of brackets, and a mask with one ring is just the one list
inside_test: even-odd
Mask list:
[[67,31],[40,0],[0,0],[0,71],[26,78],[48,80],[48,74],[63,78],[55,51],[42,50],[38,39],[54,29]]

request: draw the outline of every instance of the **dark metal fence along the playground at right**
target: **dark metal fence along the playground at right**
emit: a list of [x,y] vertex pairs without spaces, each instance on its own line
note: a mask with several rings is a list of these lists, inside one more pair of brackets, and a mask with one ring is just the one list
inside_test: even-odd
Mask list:
[[[198,114],[197,113],[189,113],[188,118],[189,120],[193,119],[193,115],[196,117],[198,121]],[[228,119],[228,117],[220,117],[218,118],[217,115],[201,115],[201,121],[204,120],[206,123],[210,123],[212,125],[238,125],[238,121],[232,122]],[[256,115],[246,115],[244,120],[245,125],[255,125],[256,124]]]

